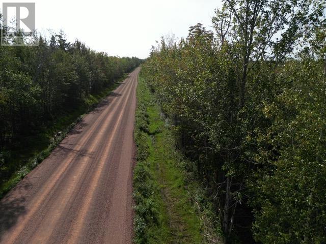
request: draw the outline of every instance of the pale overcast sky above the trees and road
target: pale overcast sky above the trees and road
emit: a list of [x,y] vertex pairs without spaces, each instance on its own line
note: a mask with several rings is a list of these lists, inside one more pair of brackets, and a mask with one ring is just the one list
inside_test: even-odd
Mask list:
[[[5,2],[33,2],[5,1]],[[109,55],[146,58],[161,36],[186,37],[198,22],[209,28],[221,0],[36,0],[36,29],[62,29],[69,41],[78,39]],[[2,3],[2,2],[1,2]]]

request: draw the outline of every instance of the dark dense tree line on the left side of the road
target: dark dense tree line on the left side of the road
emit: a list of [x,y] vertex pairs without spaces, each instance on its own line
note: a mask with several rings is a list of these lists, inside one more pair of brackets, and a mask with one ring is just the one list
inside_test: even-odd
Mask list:
[[63,33],[39,37],[39,46],[0,46],[0,145],[76,108],[140,62],[69,43]]

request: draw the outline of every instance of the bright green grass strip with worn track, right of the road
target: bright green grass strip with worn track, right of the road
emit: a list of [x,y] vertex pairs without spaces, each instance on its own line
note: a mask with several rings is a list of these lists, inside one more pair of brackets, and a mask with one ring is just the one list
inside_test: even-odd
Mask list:
[[205,191],[187,176],[173,130],[143,77],[137,97],[134,243],[219,243]]

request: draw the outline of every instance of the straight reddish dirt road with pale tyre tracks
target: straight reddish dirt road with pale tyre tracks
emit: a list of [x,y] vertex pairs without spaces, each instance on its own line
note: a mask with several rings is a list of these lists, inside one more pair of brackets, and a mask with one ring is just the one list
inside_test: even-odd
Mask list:
[[0,243],[131,243],[140,68],[0,202]]

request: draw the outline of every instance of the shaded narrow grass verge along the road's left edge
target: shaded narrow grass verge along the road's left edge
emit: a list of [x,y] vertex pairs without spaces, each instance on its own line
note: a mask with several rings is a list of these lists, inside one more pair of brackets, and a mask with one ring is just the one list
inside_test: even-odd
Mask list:
[[[16,149],[7,150],[8,156],[6,156],[5,166],[0,169],[3,175],[0,180],[0,199],[15,187],[26,174],[47,158],[51,151],[66,137],[66,134],[83,118],[85,113],[92,110],[110,94],[125,77],[126,75],[100,93],[90,95],[77,108],[64,111],[44,128],[40,128],[37,134],[20,138],[21,143]],[[62,134],[55,137],[59,131]]]

